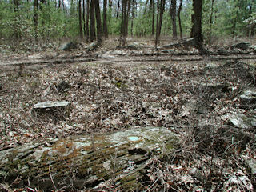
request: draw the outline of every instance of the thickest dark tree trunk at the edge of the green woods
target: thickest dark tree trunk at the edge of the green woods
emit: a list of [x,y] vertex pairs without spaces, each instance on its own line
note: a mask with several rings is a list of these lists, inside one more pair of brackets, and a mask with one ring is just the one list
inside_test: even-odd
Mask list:
[[191,15],[192,29],[191,38],[195,38],[198,43],[202,42],[202,0],[193,0],[194,14]]

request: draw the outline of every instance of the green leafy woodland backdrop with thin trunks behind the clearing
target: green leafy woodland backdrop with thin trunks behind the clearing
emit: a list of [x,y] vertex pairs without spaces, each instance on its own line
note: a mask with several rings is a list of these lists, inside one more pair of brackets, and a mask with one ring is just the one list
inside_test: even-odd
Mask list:
[[[97,4],[102,32],[95,29],[97,19],[94,5]],[[256,26],[254,5],[255,0],[203,0],[204,40],[212,43],[214,39],[228,36],[253,37]],[[0,50],[15,50],[15,47],[20,49],[21,46],[30,47],[38,42],[59,42],[64,39],[80,38],[92,42],[95,31],[103,33],[105,38],[108,38],[108,34],[120,35],[124,28],[124,6],[128,18],[126,33],[130,36],[152,37],[158,25],[159,7],[163,8],[162,35],[171,35],[174,39],[190,36],[193,1],[188,0],[1,0]]]

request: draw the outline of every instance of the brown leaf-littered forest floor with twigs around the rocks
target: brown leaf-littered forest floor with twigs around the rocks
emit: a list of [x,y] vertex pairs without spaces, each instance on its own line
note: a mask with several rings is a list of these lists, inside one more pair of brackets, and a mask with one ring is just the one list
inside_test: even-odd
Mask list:
[[[256,90],[255,48],[209,46],[212,54],[201,56],[193,47],[155,50],[154,42],[133,39],[128,44],[134,46],[117,48],[111,39],[92,52],[81,44],[71,51],[1,54],[0,150],[164,126],[182,146],[168,158],[152,159],[146,191],[254,191],[255,174],[246,160],[256,160],[255,126],[236,127],[230,115],[256,116],[239,98]],[[62,82],[68,86],[59,89]],[[34,115],[34,104],[46,101],[71,102],[69,118]]]

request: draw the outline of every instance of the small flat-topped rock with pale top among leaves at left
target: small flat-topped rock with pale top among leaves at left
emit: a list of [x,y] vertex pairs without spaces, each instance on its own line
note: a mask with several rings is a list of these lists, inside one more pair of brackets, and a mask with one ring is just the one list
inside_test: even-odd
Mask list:
[[71,103],[62,101],[62,102],[38,102],[33,107],[34,113],[38,116],[48,116],[58,119],[65,119],[70,115]]

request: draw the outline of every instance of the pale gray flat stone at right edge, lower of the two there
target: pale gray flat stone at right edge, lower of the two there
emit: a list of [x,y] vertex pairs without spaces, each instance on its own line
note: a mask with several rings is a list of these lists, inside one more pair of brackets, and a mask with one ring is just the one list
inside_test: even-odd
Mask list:
[[238,128],[250,129],[256,126],[256,118],[247,117],[245,114],[232,114],[229,119]]

